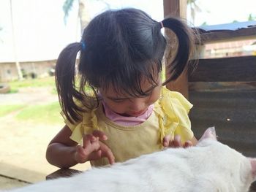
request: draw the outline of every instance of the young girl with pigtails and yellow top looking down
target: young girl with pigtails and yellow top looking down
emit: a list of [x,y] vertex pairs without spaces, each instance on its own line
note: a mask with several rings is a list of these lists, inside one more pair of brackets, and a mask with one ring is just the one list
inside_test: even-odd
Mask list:
[[[178,38],[165,82],[161,28]],[[103,166],[163,147],[195,145],[187,115],[192,104],[162,87],[184,71],[192,45],[190,29],[177,18],[159,23],[139,9],[120,9],[91,20],[81,42],[65,47],[56,64],[66,125],[48,145],[49,163]]]

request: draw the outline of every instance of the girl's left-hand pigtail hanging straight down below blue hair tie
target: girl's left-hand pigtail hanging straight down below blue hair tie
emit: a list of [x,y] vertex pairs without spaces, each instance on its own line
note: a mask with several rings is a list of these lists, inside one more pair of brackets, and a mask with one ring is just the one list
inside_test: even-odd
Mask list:
[[75,64],[78,52],[82,49],[79,42],[67,45],[61,51],[56,62],[56,88],[59,96],[61,109],[67,119],[74,123],[74,120],[80,120],[78,112],[83,111],[75,104],[74,99],[82,100],[83,96],[75,88]]

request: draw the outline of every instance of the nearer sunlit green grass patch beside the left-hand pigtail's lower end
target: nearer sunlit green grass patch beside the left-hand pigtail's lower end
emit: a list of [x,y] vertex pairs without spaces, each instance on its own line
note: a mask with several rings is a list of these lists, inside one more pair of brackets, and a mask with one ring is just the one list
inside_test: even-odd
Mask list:
[[41,104],[26,107],[20,111],[16,118],[18,120],[29,120],[34,123],[45,124],[60,124],[63,123],[63,118],[60,115],[61,107],[59,102],[50,104]]

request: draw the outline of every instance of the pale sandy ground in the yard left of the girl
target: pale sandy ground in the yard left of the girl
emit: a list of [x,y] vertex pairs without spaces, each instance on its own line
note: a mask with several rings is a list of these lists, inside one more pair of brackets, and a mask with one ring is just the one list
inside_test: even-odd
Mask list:
[[[1,105],[45,104],[58,101],[50,88],[23,88],[18,93],[0,94]],[[0,118],[0,190],[45,180],[58,168],[48,164],[45,150],[64,124],[35,124],[15,119],[15,114]],[[74,166],[85,170],[89,164]]]

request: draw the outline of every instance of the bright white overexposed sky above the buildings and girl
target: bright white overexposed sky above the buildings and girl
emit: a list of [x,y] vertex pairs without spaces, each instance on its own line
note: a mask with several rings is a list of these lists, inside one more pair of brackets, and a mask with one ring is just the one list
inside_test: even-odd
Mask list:
[[[13,31],[10,1],[12,1]],[[163,19],[162,0],[105,0],[110,8],[135,7],[148,12],[154,20]],[[1,0],[0,62],[42,61],[56,59],[71,42],[80,41],[78,0],[64,24],[64,0]],[[256,0],[197,0],[195,26],[246,21],[251,13],[256,19]],[[107,9],[102,1],[89,0],[91,18]],[[189,7],[187,16],[189,18]],[[13,38],[15,37],[15,38]],[[15,41],[16,47],[13,46]],[[14,52],[14,50],[16,50]]]

